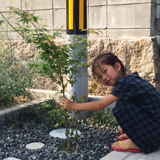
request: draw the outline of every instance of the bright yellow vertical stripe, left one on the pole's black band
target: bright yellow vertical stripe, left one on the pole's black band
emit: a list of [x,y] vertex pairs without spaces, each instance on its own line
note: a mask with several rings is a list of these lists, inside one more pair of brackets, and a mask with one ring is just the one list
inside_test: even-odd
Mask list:
[[68,29],[73,29],[73,1],[68,0]]

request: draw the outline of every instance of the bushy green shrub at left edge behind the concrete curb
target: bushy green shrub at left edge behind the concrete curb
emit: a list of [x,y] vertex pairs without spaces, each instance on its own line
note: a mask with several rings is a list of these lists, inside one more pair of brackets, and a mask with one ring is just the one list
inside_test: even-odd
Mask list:
[[[26,88],[31,87],[32,76],[24,65],[14,61],[10,43],[5,45],[7,48],[0,48],[0,104],[8,106],[14,97],[27,96]],[[2,41],[0,46],[4,46]]]

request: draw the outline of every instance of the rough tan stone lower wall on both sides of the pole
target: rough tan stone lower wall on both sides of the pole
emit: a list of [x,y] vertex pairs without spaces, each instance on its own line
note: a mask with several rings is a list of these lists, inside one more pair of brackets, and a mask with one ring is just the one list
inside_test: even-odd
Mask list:
[[[142,78],[148,80],[160,91],[160,55],[156,38],[142,37],[127,39],[94,37],[90,41],[92,45],[88,48],[88,62],[92,62],[98,54],[112,52],[122,60],[127,73],[138,72]],[[64,40],[58,40],[57,43],[61,45],[65,42]],[[38,54],[38,51],[35,50],[33,45],[27,45],[24,41],[14,42],[12,50],[14,52],[14,58],[24,64],[34,59]],[[88,88],[91,90],[94,81],[91,74],[91,67],[88,69],[88,80]],[[38,82],[38,86],[36,87],[39,89],[59,90],[60,88],[57,84],[43,77],[38,77],[35,81]],[[96,85],[98,85],[98,89],[92,92],[92,94],[97,96],[105,96],[112,90],[112,87],[105,87],[98,82],[93,86],[96,87]]]

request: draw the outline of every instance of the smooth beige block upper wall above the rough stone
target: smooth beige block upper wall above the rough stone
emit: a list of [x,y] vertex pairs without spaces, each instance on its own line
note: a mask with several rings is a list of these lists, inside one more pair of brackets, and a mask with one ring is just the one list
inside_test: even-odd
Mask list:
[[[48,29],[66,27],[65,0],[0,0],[0,11],[7,14],[10,5],[27,6]],[[160,35],[160,0],[87,0],[87,13],[87,26],[100,30],[99,37]]]

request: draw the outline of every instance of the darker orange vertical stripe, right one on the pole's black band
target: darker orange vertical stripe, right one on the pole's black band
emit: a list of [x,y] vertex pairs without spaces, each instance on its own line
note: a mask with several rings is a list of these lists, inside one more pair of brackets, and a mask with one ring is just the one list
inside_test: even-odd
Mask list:
[[84,29],[84,0],[79,0],[79,29]]

